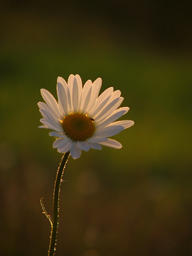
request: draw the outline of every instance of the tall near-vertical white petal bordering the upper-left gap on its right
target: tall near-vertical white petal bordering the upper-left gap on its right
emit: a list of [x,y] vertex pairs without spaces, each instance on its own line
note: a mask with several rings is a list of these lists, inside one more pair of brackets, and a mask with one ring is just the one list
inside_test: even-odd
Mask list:
[[[60,81],[60,79],[58,79],[58,81]],[[66,116],[68,114],[68,97],[63,84],[60,82],[57,82],[57,97],[60,111],[63,116]]]

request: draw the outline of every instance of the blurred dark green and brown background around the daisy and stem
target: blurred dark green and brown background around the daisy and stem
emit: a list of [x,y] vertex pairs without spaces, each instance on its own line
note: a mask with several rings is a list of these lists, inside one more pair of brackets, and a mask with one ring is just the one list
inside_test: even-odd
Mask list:
[[61,154],[40,89],[102,77],[135,121],[69,159],[56,255],[192,255],[192,1],[0,2],[0,255],[43,256]]

